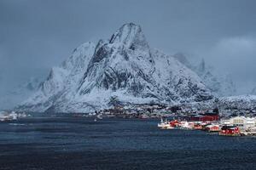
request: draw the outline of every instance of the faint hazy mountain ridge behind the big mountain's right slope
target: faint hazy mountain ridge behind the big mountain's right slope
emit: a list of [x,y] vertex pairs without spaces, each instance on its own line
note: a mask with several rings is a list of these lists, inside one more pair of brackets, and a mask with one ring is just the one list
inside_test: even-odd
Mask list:
[[178,53],[174,54],[173,57],[188,66],[192,71],[195,71],[214,96],[224,97],[236,95],[236,85],[231,77],[227,74],[214,74],[212,66],[207,65],[204,59],[198,65],[191,65],[185,54]]

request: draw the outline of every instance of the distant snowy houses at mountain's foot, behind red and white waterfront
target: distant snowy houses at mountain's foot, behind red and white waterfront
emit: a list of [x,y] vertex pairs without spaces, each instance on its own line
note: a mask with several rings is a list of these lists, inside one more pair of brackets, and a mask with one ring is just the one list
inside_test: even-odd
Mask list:
[[[108,109],[95,111],[90,115],[103,115],[108,117],[123,117],[123,118],[160,118],[160,117],[183,117],[187,120],[188,117],[193,117],[194,121],[205,122],[212,121],[210,115],[213,110],[208,108],[195,107],[193,105],[165,105],[165,104],[126,104],[112,105]],[[216,112],[216,111],[215,111]],[[208,114],[208,115],[207,115]],[[218,116],[256,116],[256,108],[247,110],[238,110],[237,108],[222,109]],[[213,121],[216,117],[213,117]]]

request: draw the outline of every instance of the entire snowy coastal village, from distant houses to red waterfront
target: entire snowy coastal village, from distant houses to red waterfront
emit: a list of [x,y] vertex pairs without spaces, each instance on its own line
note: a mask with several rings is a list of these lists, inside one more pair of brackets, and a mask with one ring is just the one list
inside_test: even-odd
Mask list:
[[218,133],[224,136],[256,135],[256,109],[238,110],[228,108],[218,111],[198,110],[166,105],[114,106],[111,109],[96,111],[89,116],[121,118],[158,118],[161,129],[190,129]]

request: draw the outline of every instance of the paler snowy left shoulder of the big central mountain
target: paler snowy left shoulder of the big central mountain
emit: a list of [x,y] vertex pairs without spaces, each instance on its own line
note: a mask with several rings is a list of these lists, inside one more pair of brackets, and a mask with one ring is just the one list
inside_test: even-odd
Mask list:
[[51,69],[49,77],[40,84],[38,91],[19,108],[25,111],[46,111],[61,95],[73,93],[87,69],[94,49],[92,42],[86,42],[76,48],[59,67]]

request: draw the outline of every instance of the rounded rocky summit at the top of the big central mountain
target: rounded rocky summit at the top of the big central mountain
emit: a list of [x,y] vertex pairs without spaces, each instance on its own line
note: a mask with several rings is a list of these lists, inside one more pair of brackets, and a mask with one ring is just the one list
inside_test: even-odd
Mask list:
[[134,23],[124,24],[110,38],[109,43],[121,43],[126,48],[148,48],[142,28]]

